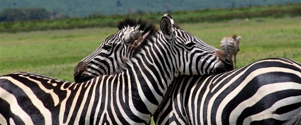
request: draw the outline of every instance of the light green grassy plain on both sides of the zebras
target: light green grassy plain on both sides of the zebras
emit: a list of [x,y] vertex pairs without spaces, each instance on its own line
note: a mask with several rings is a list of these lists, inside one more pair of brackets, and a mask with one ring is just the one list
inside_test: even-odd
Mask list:
[[[182,23],[181,27],[217,48],[223,36],[241,35],[237,54],[237,66],[241,67],[266,57],[287,57],[301,62],[300,20],[300,16],[262,17],[248,21]],[[107,27],[1,33],[0,74],[26,71],[74,81],[76,64],[116,30]]]

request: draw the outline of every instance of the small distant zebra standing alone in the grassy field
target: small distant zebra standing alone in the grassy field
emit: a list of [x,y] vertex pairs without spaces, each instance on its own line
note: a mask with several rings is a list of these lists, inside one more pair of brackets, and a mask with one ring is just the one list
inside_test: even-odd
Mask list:
[[226,54],[228,54],[231,58],[234,55],[234,68],[236,68],[236,54],[239,51],[239,39],[240,35],[236,36],[235,34],[231,36],[223,37],[221,40],[221,48]]

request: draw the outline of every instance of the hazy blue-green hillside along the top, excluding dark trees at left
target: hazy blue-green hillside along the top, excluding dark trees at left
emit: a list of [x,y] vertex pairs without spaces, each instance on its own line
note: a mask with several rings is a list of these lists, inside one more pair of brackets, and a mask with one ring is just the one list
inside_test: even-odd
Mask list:
[[0,11],[5,8],[42,7],[53,14],[84,17],[90,14],[136,14],[287,3],[300,3],[300,0],[2,0]]

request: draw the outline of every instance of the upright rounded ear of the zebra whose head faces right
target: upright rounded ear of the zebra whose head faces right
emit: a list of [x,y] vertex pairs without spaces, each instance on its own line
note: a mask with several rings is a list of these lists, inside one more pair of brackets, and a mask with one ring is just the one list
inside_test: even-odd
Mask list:
[[174,19],[169,14],[164,14],[160,21],[160,28],[168,39],[172,38],[174,33]]

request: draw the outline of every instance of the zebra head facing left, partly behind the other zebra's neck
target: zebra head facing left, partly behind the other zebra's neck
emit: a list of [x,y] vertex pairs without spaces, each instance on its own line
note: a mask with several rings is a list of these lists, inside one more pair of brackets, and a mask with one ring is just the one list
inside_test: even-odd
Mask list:
[[155,24],[132,18],[125,18],[117,27],[117,32],[107,37],[94,52],[77,64],[73,75],[75,82],[120,72],[126,60],[124,58],[130,58],[140,45],[137,39],[143,39],[149,32],[158,30]]

